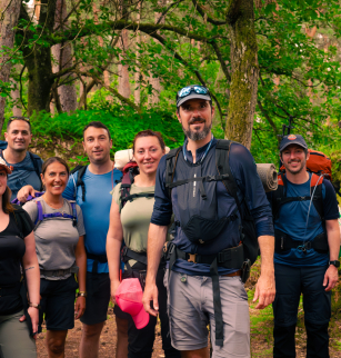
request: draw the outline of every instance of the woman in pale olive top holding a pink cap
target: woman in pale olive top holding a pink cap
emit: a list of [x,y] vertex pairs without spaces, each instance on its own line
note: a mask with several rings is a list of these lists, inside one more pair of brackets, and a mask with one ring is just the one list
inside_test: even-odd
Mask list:
[[[113,300],[120,285],[120,248],[123,237],[127,256],[123,257],[126,268],[122,279],[137,277],[140,278],[141,286],[143,286],[147,270],[147,238],[154,203],[157,169],[164,155],[164,149],[166,146],[160,133],[152,130],[139,132],[133,140],[133,157],[139,167],[139,175],[134,177],[130,187],[130,199],[127,201],[123,197],[121,185],[113,189],[107,237],[107,256]],[[169,335],[167,289],[163,285],[164,268],[166,262],[162,261],[157,278],[162,348],[167,358],[180,357],[180,352],[171,346]],[[157,317],[150,316],[149,324],[142,329],[137,329],[130,315],[122,312],[118,306],[114,307],[114,312],[117,317],[127,317],[129,320],[128,357],[150,358],[156,338]]]

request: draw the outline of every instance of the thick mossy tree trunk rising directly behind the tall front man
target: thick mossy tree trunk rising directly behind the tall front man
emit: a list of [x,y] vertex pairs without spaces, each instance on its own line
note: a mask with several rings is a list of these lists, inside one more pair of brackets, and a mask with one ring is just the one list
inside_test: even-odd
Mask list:
[[253,0],[232,0],[228,21],[232,73],[225,137],[250,149],[259,76]]

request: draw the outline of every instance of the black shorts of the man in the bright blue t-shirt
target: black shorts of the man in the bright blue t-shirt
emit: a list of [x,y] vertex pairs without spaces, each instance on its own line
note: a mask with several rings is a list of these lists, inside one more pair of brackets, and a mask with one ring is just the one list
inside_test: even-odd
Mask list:
[[110,301],[109,274],[87,272],[87,306],[80,321],[84,325],[96,325],[107,320]]

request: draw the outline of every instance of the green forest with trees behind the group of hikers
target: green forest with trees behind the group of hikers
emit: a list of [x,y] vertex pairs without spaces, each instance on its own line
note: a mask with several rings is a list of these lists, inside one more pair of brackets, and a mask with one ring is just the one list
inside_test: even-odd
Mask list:
[[[11,116],[29,116],[31,150],[71,167],[87,161],[82,128],[91,120],[109,127],[112,157],[148,128],[174,148],[183,141],[175,93],[199,83],[212,93],[217,138],[278,165],[291,120],[292,132],[331,157],[340,188],[340,0],[0,0],[0,131]],[[271,308],[250,312],[252,351],[271,356]],[[300,308],[302,355],[303,326]]]

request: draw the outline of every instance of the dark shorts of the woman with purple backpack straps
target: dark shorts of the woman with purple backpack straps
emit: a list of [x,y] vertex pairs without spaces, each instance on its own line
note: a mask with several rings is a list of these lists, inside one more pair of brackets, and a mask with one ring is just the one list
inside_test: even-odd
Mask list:
[[40,279],[39,332],[43,315],[48,330],[67,330],[74,327],[74,299],[78,284],[74,276],[64,280]]

